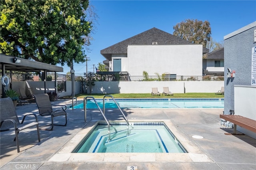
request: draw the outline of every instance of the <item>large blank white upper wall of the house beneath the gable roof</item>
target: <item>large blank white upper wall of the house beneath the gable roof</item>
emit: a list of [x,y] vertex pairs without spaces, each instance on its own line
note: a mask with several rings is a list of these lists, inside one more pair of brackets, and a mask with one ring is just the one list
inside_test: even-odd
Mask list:
[[128,45],[127,56],[127,71],[132,76],[143,71],[148,75],[202,75],[202,45]]

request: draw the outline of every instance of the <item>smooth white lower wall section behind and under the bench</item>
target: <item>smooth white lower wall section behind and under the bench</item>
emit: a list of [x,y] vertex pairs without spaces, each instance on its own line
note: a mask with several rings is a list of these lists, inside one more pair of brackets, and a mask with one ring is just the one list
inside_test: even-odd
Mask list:
[[[235,115],[240,115],[256,121],[256,86],[234,85]],[[237,130],[256,139],[256,133],[237,126]]]

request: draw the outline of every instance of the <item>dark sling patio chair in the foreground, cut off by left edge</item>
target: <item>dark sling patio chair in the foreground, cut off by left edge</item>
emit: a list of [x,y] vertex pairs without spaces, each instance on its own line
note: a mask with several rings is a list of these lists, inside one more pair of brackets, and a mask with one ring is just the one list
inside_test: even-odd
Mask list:
[[[39,133],[39,126],[38,126],[38,119],[37,116],[34,113],[26,114],[24,115],[22,122],[20,123],[15,107],[13,105],[12,99],[10,97],[2,98],[0,99],[0,131],[7,131],[7,130],[14,130],[15,131],[15,138],[16,145],[17,145],[17,151],[20,152],[20,145],[19,145],[19,138],[18,134],[20,131],[34,127],[37,128],[37,134],[38,134],[38,142],[40,142],[40,133]],[[29,121],[29,123],[24,123],[25,118],[30,115],[35,117],[35,121]]]

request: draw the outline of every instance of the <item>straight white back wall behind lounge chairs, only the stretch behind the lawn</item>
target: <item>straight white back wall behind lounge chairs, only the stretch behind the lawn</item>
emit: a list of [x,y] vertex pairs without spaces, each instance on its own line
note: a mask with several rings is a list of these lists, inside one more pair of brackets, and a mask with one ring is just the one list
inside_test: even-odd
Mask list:
[[157,87],[169,87],[172,93],[216,93],[224,81],[96,81],[92,93],[151,93]]

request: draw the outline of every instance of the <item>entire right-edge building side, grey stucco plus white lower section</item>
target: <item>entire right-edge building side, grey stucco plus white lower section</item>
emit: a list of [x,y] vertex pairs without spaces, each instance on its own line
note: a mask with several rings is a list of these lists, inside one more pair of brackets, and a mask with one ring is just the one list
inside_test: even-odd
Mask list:
[[[256,120],[256,87],[251,85],[252,74],[252,48],[256,22],[249,24],[227,36],[224,36],[224,75],[230,68],[235,71],[235,77],[225,76],[225,103],[224,114],[229,110],[235,115],[241,115]],[[240,132],[256,138],[256,133],[242,127],[237,127]]]

